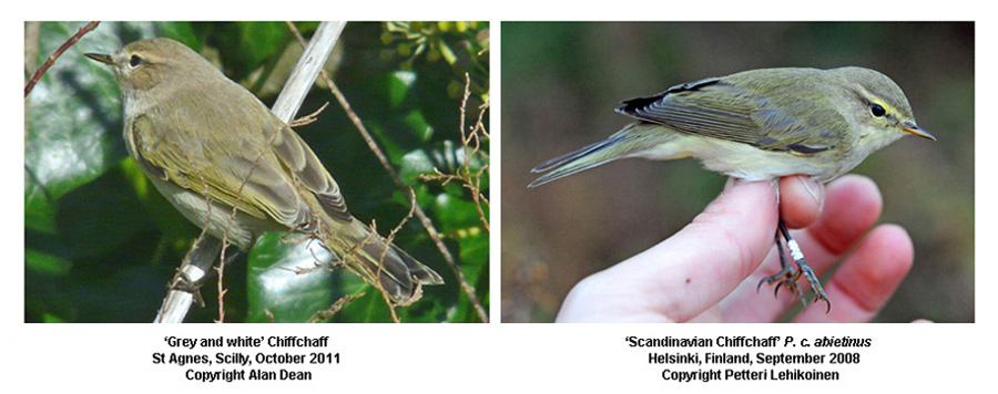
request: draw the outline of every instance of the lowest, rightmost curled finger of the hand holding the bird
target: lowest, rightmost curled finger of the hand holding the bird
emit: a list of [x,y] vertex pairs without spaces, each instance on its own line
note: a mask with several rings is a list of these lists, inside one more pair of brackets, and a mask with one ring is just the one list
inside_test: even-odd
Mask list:
[[825,291],[835,300],[835,308],[829,313],[822,308],[808,308],[794,321],[868,322],[897,290],[914,260],[915,248],[905,229],[878,226],[828,280]]

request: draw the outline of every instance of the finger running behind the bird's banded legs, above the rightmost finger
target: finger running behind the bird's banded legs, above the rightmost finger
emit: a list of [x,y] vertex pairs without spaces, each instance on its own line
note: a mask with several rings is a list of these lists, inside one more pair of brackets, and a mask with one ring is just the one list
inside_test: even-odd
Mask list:
[[[828,184],[821,216],[806,230],[792,231],[807,265],[818,276],[827,271],[873,226],[882,206],[880,193],[869,178],[847,175]],[[773,287],[764,286],[756,291],[762,278],[778,271],[780,259],[774,247],[760,269],[722,303],[725,317],[730,321],[774,321],[794,308],[800,301],[786,289],[781,289],[777,297],[773,297],[776,290]],[[809,290],[806,279],[800,284],[802,290]],[[808,291],[805,297],[813,294]],[[824,305],[814,309],[825,311]]]

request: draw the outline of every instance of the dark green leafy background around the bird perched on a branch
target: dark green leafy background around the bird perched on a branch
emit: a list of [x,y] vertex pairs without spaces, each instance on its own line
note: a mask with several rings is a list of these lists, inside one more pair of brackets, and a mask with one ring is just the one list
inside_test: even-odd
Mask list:
[[[26,81],[82,22],[28,22]],[[317,23],[296,23],[306,40]],[[489,308],[489,234],[469,191],[418,176],[461,170],[460,106],[470,75],[467,126],[489,97],[489,25],[483,22],[349,23],[327,70],[364,121],[419,206],[441,232],[483,310]],[[70,48],[26,98],[24,320],[27,322],[150,322],[184,253],[200,232],[147,183],[122,143],[118,85],[86,52],[109,53],[129,42],[169,37],[198,51],[271,105],[301,54],[283,22],[104,22]],[[409,204],[327,89],[315,87],[298,116],[330,105],[297,128],[339,183],[350,211],[376,220],[381,235]],[[488,152],[488,139],[483,139]],[[471,170],[488,165],[469,156]],[[481,193],[488,197],[488,172]],[[485,207],[488,219],[488,206]],[[267,238],[225,269],[225,321],[305,321],[345,294],[366,290],[326,321],[391,321],[380,294],[342,271],[283,280],[281,260],[309,262],[294,247]],[[418,220],[395,243],[439,272],[447,284],[424,289],[399,308],[405,322],[476,322],[454,270]],[[230,249],[234,251],[233,249]],[[230,251],[230,253],[231,253]],[[247,269],[248,265],[248,269]],[[282,279],[283,278],[283,279]],[[266,286],[263,286],[266,284]],[[217,281],[202,291],[205,308],[186,321],[218,318]],[[267,315],[269,313],[269,315]]]

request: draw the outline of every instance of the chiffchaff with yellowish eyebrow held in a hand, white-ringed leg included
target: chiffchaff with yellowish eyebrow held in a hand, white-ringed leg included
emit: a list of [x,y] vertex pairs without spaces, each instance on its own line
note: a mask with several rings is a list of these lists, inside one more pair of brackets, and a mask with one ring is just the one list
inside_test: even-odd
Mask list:
[[[863,68],[752,70],[622,104],[617,112],[638,122],[605,141],[541,163],[532,172],[548,173],[529,187],[624,157],[696,157],[707,169],[750,182],[795,174],[828,182],[906,134],[935,139],[915,124],[900,87]],[[786,261],[781,234],[796,270]],[[780,281],[800,294],[796,282],[804,276],[815,302],[823,300],[831,309],[782,219],[776,243],[783,270],[760,284]]]

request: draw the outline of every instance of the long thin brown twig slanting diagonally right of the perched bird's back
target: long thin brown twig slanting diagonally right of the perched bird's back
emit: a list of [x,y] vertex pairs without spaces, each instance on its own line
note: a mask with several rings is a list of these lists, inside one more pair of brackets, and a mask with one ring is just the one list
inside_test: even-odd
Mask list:
[[[297,38],[298,43],[304,45],[305,39],[302,38],[302,34],[295,29],[293,25],[291,27],[292,32]],[[339,91],[339,87],[336,86],[336,83],[333,82],[333,79],[329,77],[329,74],[322,72],[323,79],[329,85],[329,91],[336,96],[336,100],[339,102],[339,105],[346,112],[347,117],[350,118],[350,122],[354,123],[354,126],[357,127],[357,131],[360,132],[360,136],[364,137],[364,142],[367,143],[368,148],[370,148],[371,153],[378,158],[378,162],[381,163],[381,167],[385,168],[385,172],[388,173],[388,176],[391,177],[391,180],[395,182],[395,185],[401,189],[406,190],[406,185],[399,178],[398,173],[391,167],[391,164],[388,162],[388,158],[381,152],[380,147],[378,147],[377,143],[375,143],[374,138],[371,138],[370,133],[367,132],[367,127],[364,126],[364,122],[360,121],[360,117],[357,116],[356,113],[350,108],[350,104],[347,102],[346,97],[343,95],[343,92]],[[430,238],[436,243],[437,249],[440,250],[440,255],[444,256],[444,260],[447,261],[447,265],[450,266],[450,269],[455,272],[455,276],[458,278],[458,281],[461,282],[461,290],[468,296],[468,299],[471,301],[471,304],[475,305],[475,310],[478,313],[479,320],[482,322],[488,322],[489,317],[486,313],[485,308],[481,305],[481,302],[478,301],[478,297],[475,296],[475,288],[468,283],[468,280],[465,278],[464,272],[460,267],[454,259],[454,255],[450,253],[450,250],[447,249],[447,246],[444,245],[444,241],[440,239],[440,234],[434,227],[432,221],[429,217],[426,216],[426,212],[417,204],[413,204],[414,210],[416,212],[416,217],[419,218],[419,222],[422,224],[422,227],[426,228],[427,234],[429,234]]]

